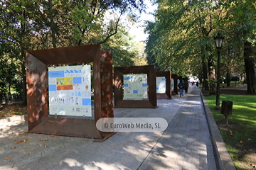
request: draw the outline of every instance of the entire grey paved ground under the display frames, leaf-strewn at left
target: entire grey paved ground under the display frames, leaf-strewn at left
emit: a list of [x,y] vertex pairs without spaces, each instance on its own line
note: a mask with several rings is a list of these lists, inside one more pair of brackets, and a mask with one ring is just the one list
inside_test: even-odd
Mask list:
[[158,106],[115,108],[114,115],[165,118],[164,132],[118,132],[102,143],[26,133],[26,122],[0,120],[0,169],[216,169],[199,89]]

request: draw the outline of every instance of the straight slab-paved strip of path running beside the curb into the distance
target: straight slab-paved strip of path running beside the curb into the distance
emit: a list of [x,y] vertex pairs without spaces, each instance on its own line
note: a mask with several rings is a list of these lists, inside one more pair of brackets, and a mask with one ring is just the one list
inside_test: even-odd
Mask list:
[[183,106],[139,169],[216,169],[199,91],[189,88]]

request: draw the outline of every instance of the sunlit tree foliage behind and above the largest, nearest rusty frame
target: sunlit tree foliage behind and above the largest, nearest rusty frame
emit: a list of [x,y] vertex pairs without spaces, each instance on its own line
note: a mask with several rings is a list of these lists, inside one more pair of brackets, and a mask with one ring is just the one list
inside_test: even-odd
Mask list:
[[[29,50],[102,43],[103,48],[113,49],[114,65],[133,65],[141,56],[136,45],[129,42],[131,39],[120,22],[121,16],[130,9],[142,11],[143,1],[1,1],[1,96],[20,94],[26,87],[26,52]],[[116,13],[107,15],[111,10]],[[114,15],[117,17],[112,17]],[[134,20],[135,16],[130,18]]]

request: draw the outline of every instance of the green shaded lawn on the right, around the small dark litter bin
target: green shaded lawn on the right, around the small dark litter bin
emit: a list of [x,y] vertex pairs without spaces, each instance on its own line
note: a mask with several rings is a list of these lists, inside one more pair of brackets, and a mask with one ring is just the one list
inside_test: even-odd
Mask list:
[[[215,111],[215,96],[206,96],[215,122],[225,124],[225,116]],[[221,101],[233,101],[233,115],[229,116],[231,130],[221,130],[228,152],[237,169],[256,169],[256,96],[220,95]]]

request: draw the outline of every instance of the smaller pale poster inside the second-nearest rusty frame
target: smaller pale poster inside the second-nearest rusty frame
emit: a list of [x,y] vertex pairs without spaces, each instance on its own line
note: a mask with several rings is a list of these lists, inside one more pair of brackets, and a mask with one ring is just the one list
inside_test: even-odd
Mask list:
[[124,74],[124,99],[148,98],[146,74]]

